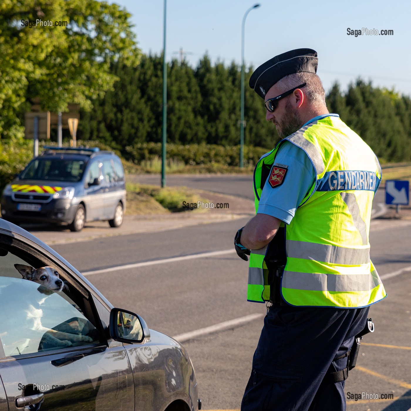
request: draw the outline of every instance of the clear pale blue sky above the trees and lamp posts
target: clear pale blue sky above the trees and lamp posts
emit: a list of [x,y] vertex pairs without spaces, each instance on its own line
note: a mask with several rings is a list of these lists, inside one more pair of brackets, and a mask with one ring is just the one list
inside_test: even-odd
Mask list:
[[[143,53],[163,48],[163,0],[116,0],[133,16]],[[258,1],[257,1],[258,2]],[[166,58],[183,48],[192,66],[208,53],[229,64],[241,60],[241,21],[252,0],[168,0]],[[245,25],[245,62],[255,67],[294,48],[313,48],[328,90],[361,76],[376,86],[411,95],[411,2],[261,0]],[[394,30],[392,36],[347,35],[347,28]],[[189,53],[189,54],[188,54]]]

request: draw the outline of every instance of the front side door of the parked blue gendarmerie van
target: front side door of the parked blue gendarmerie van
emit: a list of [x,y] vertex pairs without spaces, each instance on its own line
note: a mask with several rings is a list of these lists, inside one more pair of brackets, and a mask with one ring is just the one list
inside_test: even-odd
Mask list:
[[[104,216],[104,196],[106,189],[108,188],[104,182],[103,174],[101,171],[102,163],[98,159],[92,160],[90,166],[88,167],[83,201],[85,203],[86,220],[94,221],[102,219]],[[99,184],[94,185],[95,179]]]

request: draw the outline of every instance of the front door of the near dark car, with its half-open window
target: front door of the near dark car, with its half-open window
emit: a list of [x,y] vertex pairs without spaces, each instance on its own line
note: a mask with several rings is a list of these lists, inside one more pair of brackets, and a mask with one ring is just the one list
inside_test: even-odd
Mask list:
[[[64,292],[24,279],[15,264],[52,267],[65,280]],[[126,350],[107,340],[90,291],[60,261],[1,234],[0,342],[10,411],[21,409],[28,397],[42,400],[42,411],[134,410]]]

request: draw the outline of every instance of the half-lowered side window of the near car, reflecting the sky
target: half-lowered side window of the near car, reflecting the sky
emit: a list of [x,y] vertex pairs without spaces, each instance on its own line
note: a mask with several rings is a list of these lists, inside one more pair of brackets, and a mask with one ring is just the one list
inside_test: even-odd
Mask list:
[[53,275],[56,269],[36,270],[28,279],[31,268],[20,257],[0,249],[0,340],[5,355],[99,342],[98,330],[75,302],[79,301],[76,290],[71,287],[69,295],[52,291],[49,287],[58,281]]

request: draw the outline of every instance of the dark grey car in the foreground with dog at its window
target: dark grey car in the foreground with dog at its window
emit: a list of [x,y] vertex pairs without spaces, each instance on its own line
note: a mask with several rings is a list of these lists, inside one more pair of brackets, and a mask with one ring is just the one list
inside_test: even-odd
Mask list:
[[[24,267],[45,274],[28,281]],[[42,281],[57,273],[65,286],[53,292]],[[0,411],[201,408],[192,362],[178,341],[114,307],[53,249],[4,219],[0,377]]]

